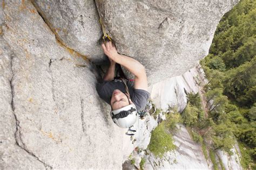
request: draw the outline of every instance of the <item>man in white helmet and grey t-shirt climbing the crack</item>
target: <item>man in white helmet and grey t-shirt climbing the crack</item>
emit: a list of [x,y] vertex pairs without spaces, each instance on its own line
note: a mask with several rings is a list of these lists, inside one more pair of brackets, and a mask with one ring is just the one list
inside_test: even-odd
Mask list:
[[[137,120],[137,111],[147,104],[147,76],[144,66],[137,60],[117,53],[111,41],[102,43],[110,61],[103,81],[97,84],[99,96],[111,105],[111,117],[119,127],[130,128]],[[134,74],[133,80],[114,77],[116,63]]]

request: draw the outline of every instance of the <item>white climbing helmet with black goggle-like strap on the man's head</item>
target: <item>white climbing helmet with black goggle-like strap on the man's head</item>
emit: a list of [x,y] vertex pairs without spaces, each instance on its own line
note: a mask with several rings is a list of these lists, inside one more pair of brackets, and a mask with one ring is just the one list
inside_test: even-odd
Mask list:
[[110,116],[120,128],[130,128],[137,120],[137,109],[134,104],[126,105],[126,107],[112,110]]

